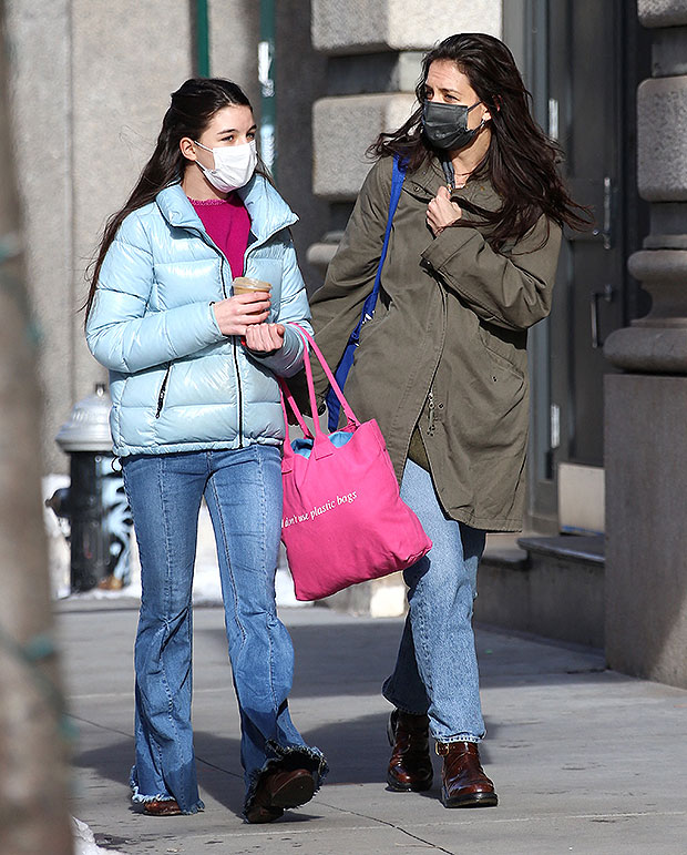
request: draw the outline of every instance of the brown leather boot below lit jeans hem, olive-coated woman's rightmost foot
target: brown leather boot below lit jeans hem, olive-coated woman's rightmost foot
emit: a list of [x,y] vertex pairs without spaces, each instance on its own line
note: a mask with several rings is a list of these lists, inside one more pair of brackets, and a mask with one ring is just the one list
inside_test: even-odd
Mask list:
[[474,742],[438,742],[443,757],[441,801],[444,807],[495,807],[499,796],[484,774]]

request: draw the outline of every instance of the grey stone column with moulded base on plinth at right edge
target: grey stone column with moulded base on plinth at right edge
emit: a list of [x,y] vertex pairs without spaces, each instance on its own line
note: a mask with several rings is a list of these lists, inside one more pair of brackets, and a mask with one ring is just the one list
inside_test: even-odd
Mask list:
[[650,234],[628,262],[652,311],[607,339],[606,658],[687,688],[687,2],[638,0],[653,77],[637,92]]

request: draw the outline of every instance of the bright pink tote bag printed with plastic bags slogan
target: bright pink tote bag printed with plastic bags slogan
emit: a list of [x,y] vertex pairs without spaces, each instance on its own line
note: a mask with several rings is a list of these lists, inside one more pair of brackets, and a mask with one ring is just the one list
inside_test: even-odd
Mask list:
[[[281,540],[296,598],[319,600],[356,582],[404,570],[429,552],[432,541],[399,496],[377,421],[358,421],[315,340],[297,328],[319,359],[347,418],[345,427],[330,435],[316,418],[312,434],[281,381],[286,423]],[[307,344],[305,369],[310,411],[317,413]],[[290,441],[285,399],[304,439]]]

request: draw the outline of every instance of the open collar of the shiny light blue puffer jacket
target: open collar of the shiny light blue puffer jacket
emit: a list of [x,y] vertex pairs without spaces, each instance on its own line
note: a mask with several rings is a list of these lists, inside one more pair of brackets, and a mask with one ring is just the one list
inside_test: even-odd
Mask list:
[[[248,211],[256,243],[264,243],[276,232],[298,222],[296,214],[264,175],[254,175],[245,187],[239,189],[238,195]],[[155,201],[170,225],[205,231],[181,183],[161,190]]]

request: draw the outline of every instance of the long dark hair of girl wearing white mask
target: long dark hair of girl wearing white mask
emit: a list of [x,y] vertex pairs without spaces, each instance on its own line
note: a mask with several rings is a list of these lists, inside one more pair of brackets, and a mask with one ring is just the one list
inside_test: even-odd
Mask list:
[[[182,180],[188,161],[180,149],[181,140],[184,136],[197,140],[215,113],[223,106],[247,106],[253,110],[250,101],[240,86],[222,78],[191,79],[172,93],[172,104],[162,120],[162,130],[153,156],[143,167],[124,207],[105,223],[98,255],[86,272],[86,278],[91,284],[89,296],[83,305],[86,319],[93,305],[105,254],[124,218],[133,211],[152,202],[161,190]],[[262,161],[258,162],[257,171],[264,175],[267,174]]]

